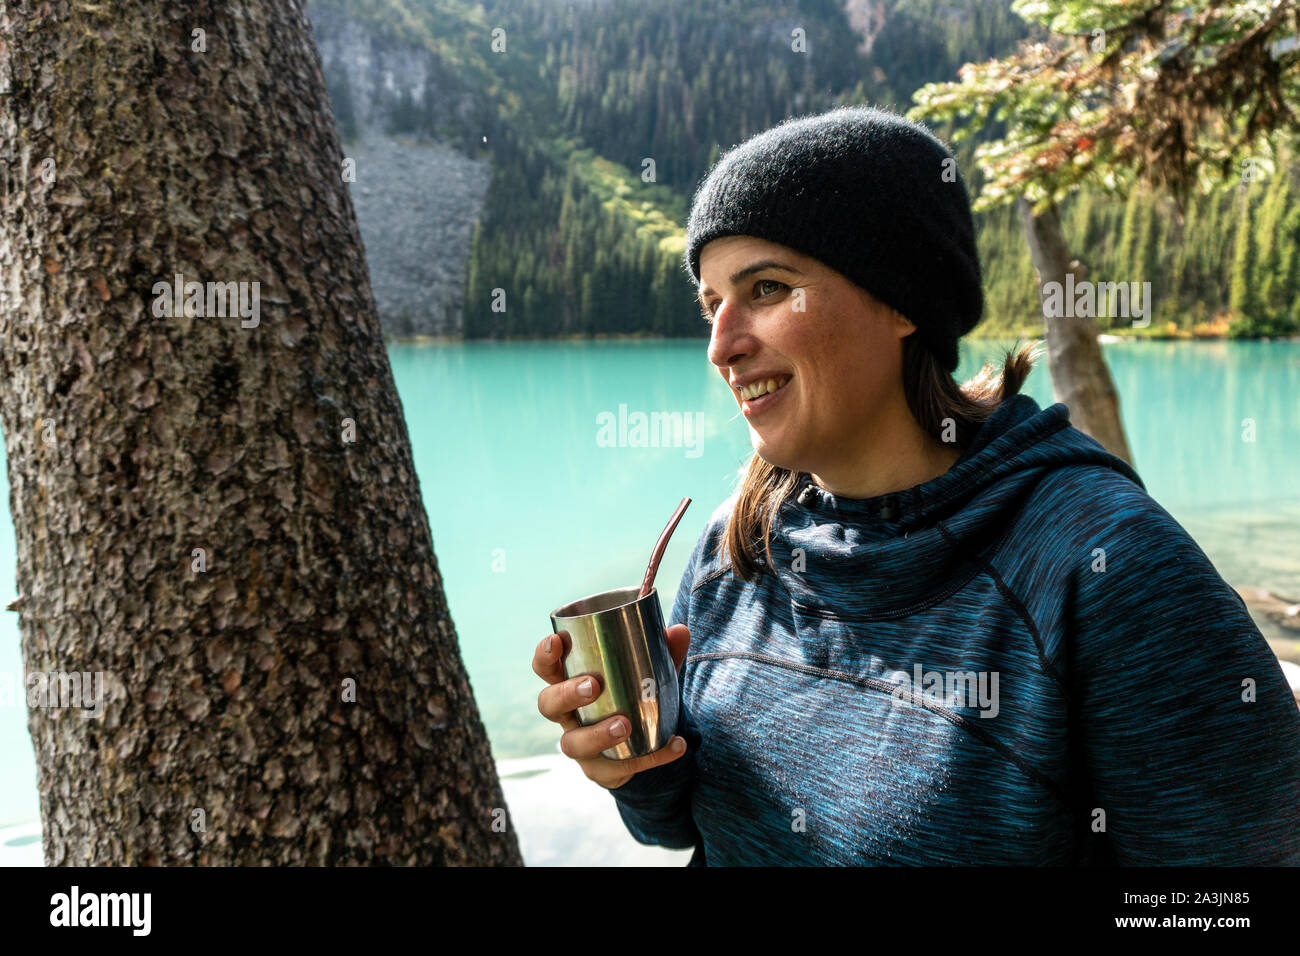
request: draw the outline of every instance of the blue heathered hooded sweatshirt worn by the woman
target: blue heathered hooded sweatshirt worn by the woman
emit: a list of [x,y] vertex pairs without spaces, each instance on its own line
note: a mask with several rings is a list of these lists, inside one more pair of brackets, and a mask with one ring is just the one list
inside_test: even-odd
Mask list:
[[[1300,864],[1300,711],[1236,592],[1065,405],[944,475],[801,475],[750,583],[690,555],[689,750],[611,791],[690,865]],[[774,574],[775,571],[775,574]]]

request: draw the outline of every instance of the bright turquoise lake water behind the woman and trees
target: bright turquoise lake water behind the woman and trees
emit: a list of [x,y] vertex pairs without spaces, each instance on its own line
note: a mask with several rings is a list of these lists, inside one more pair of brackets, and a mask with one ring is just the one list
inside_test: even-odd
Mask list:
[[[1010,342],[962,343],[959,380]],[[664,522],[686,511],[660,566],[664,614],[705,520],[750,453],[705,339],[394,345],[434,550],[497,760],[552,754],[529,662],[559,605],[636,584]],[[1300,343],[1106,345],[1148,492],[1234,585],[1300,598]],[[1045,356],[1024,392],[1052,403]],[[608,446],[601,423],[689,414],[677,447]],[[602,416],[606,416],[602,419]],[[1254,441],[1244,440],[1253,421]],[[618,425],[615,424],[615,434]],[[0,450],[3,455],[3,450]],[[8,497],[0,606],[16,597]],[[21,687],[18,617],[0,614],[0,672]],[[1190,635],[1191,637],[1191,635]],[[0,826],[39,818],[23,701],[0,701]]]

